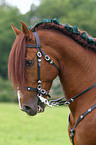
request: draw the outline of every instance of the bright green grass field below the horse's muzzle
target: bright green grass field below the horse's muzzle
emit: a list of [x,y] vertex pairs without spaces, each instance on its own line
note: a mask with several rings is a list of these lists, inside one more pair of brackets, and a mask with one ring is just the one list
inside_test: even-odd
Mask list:
[[67,107],[30,117],[17,104],[0,103],[0,145],[71,145]]

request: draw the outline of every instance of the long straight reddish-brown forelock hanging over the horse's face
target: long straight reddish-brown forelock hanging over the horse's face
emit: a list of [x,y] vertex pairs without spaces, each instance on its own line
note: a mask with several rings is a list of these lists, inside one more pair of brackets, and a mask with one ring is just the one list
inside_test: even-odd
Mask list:
[[25,53],[26,38],[20,33],[12,46],[8,62],[8,77],[15,89],[22,88],[25,83]]

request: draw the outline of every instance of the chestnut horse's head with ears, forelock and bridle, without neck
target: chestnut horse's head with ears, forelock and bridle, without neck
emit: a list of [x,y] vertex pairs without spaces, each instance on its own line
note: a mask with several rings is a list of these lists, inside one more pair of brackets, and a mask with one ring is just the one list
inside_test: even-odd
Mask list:
[[49,46],[45,48],[43,43],[40,44],[42,49],[38,46],[37,41],[40,40],[36,39],[39,39],[39,36],[35,36],[23,22],[21,22],[22,31],[13,24],[12,28],[16,40],[9,56],[8,74],[13,87],[17,90],[20,109],[33,116],[44,111],[45,105],[38,95],[44,98],[49,96],[52,81],[58,75],[58,61],[54,54],[48,56],[54,52],[50,53]]

